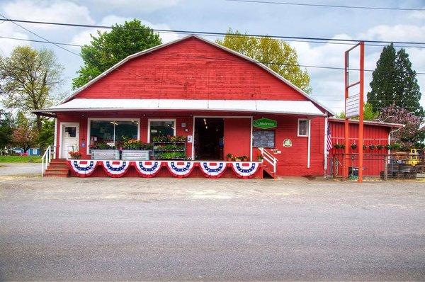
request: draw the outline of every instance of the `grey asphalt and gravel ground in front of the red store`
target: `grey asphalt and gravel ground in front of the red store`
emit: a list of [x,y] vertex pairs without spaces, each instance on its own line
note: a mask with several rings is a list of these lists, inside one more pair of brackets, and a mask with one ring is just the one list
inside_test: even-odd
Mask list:
[[424,281],[424,184],[0,176],[0,281]]

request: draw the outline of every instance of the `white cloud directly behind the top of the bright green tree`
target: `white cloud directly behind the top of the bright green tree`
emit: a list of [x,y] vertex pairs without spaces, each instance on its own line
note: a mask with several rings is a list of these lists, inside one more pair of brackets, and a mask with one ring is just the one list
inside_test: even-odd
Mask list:
[[[115,23],[124,23],[125,21],[132,21],[133,18],[125,18],[115,15],[110,15],[102,18],[101,22],[98,23],[100,26],[112,26]],[[150,28],[154,29],[170,29],[170,27],[166,23],[150,23],[149,21],[140,20],[143,25],[149,26]],[[89,30],[84,30],[81,33],[78,33],[77,35],[74,35],[74,37],[71,40],[72,44],[77,45],[84,45],[89,44],[91,41],[90,34],[95,35],[97,33],[97,30],[106,31],[109,29],[99,29],[99,28],[91,28]],[[176,40],[179,38],[179,35],[175,33],[160,33],[159,34],[162,39],[162,43],[167,43],[172,40]]]

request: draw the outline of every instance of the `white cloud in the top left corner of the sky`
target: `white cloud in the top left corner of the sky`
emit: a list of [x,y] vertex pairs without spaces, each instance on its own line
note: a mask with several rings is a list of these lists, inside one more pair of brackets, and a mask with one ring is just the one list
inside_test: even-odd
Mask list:
[[[52,21],[60,23],[93,24],[89,9],[71,1],[28,1],[16,0],[3,6],[8,18],[24,19],[27,21]],[[30,28],[63,30],[64,26],[25,24]]]

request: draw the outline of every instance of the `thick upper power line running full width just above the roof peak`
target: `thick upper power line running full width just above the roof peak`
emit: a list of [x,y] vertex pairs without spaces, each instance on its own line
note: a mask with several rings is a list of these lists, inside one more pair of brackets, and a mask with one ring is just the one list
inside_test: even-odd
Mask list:
[[[344,39],[344,38],[313,38],[313,37],[302,37],[302,36],[283,36],[283,35],[259,35],[259,34],[240,34],[240,33],[218,33],[211,31],[197,31],[197,30],[171,30],[171,29],[159,29],[159,28],[130,28],[130,27],[120,27],[120,26],[99,26],[99,25],[87,25],[79,23],[56,23],[48,21],[26,21],[26,20],[16,20],[16,19],[4,19],[4,21],[12,21],[19,23],[35,23],[35,24],[44,24],[44,25],[53,25],[53,26],[74,26],[80,28],[121,28],[121,29],[130,29],[130,30],[153,30],[159,33],[179,33],[179,34],[196,34],[196,35],[231,35],[231,36],[251,36],[256,38],[280,38],[280,39],[297,39],[297,40],[324,40],[324,41],[335,41],[335,42],[344,42],[344,43],[358,43],[363,41],[365,43],[394,43],[394,44],[408,44],[408,45],[425,45],[425,42],[407,42],[407,41],[386,41],[386,40],[358,40],[358,39]],[[415,47],[415,46],[412,46]]]

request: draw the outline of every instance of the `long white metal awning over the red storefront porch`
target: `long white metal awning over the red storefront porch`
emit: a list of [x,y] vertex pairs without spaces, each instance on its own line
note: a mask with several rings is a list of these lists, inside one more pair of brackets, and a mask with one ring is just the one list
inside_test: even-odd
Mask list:
[[324,115],[311,101],[74,98],[35,113],[67,111],[228,111]]

